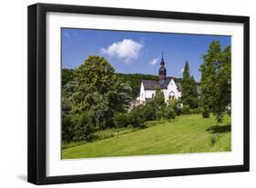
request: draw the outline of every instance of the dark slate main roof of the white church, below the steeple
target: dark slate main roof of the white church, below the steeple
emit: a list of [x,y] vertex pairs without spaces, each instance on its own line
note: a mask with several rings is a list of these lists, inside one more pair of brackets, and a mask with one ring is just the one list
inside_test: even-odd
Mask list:
[[[166,80],[142,80],[142,83],[144,85],[145,90],[155,90],[158,86],[161,89],[167,89],[167,86],[171,79],[173,79],[173,77],[167,77]],[[178,90],[182,90],[181,84],[176,84],[178,86]]]

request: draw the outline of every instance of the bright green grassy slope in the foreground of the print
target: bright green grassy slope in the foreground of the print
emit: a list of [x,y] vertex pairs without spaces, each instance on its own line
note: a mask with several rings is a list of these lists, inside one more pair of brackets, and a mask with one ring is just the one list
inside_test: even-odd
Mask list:
[[63,150],[62,158],[222,152],[230,151],[230,140],[229,116],[217,125],[213,116],[203,119],[194,114],[137,132],[71,147]]

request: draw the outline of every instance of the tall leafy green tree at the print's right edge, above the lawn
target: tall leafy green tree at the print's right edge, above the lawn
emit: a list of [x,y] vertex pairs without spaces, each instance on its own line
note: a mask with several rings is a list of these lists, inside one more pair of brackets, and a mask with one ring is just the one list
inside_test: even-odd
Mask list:
[[221,122],[223,113],[227,111],[227,106],[230,105],[230,46],[227,46],[222,51],[220,43],[213,41],[207,54],[203,55],[203,62],[200,66],[200,105],[205,114],[212,112],[217,121]]

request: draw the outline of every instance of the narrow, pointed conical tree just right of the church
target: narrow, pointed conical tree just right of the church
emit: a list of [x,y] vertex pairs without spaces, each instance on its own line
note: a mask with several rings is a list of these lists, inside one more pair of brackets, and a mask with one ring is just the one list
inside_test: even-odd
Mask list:
[[186,61],[182,77],[182,103],[189,108],[198,107],[197,83],[189,73],[189,62]]

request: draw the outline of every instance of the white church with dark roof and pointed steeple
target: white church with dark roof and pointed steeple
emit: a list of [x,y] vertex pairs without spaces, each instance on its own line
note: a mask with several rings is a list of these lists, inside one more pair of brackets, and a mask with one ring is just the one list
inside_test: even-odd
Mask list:
[[[167,70],[165,68],[165,62],[162,56],[159,68],[159,80],[142,80],[140,84],[140,92],[137,98],[138,104],[144,104],[151,101],[156,95],[157,87],[160,87],[165,96],[165,101],[178,100],[181,101],[182,97],[182,85],[179,82],[175,82],[174,77],[167,77]],[[200,96],[200,86],[197,87],[197,93]],[[182,104],[181,104],[182,106]]]

